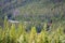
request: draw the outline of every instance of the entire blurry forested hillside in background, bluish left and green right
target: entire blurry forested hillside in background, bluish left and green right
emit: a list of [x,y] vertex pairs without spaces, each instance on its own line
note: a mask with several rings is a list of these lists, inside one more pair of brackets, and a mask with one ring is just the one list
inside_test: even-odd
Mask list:
[[1,0],[0,15],[14,15],[18,10],[17,20],[40,20],[65,17],[65,0]]

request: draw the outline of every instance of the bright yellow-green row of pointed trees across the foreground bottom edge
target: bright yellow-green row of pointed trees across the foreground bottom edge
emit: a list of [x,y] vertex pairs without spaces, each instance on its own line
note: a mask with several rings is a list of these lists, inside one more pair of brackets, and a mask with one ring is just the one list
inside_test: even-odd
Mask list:
[[43,29],[40,33],[37,33],[36,27],[31,27],[30,32],[25,30],[23,24],[12,24],[9,27],[6,19],[4,20],[4,29],[0,27],[0,43],[65,43],[64,26],[60,26],[54,30],[52,27],[51,32],[47,31],[47,24],[44,23]]

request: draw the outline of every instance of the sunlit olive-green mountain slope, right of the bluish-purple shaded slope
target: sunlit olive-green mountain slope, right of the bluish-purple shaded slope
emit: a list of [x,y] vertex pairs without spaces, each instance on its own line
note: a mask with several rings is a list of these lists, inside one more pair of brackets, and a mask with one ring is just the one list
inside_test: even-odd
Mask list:
[[[43,20],[46,18],[60,18],[64,16],[65,11],[64,2],[51,2],[50,0],[44,1],[40,0],[38,2],[32,2],[25,6],[18,8],[21,11],[18,19],[35,19],[35,20]],[[65,16],[64,16],[65,17]]]

